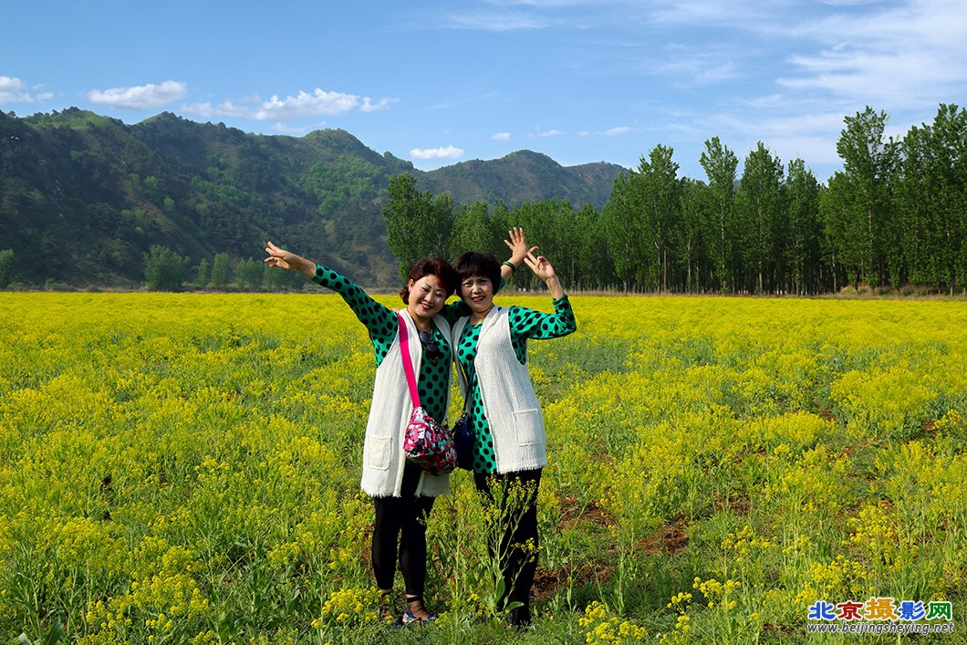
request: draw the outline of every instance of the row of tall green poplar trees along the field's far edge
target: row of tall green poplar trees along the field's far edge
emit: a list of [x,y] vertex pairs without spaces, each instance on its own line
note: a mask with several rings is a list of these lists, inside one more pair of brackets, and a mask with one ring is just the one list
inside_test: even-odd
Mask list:
[[[739,158],[705,142],[706,181],[679,177],[673,150],[642,156],[599,210],[546,200],[454,207],[449,193],[395,177],[383,210],[401,275],[420,257],[507,253],[522,226],[571,289],[675,293],[836,292],[844,286],[967,290],[967,112],[941,104],[932,124],[887,138],[866,107],[844,119],[842,170],[826,184],[801,159],[759,143]],[[528,272],[517,280],[535,286]]]

